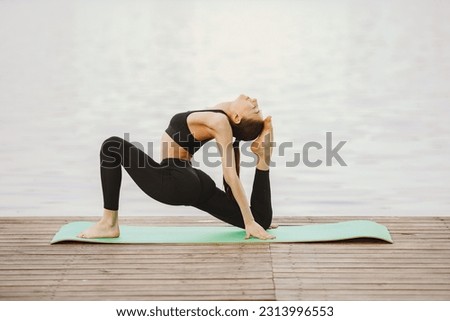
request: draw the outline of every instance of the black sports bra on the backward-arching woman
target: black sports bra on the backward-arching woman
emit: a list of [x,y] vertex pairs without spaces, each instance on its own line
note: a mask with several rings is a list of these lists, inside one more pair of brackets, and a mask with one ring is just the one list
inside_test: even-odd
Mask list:
[[189,154],[194,155],[196,151],[200,149],[209,139],[206,140],[196,140],[194,135],[192,135],[187,124],[187,118],[192,113],[198,112],[215,112],[215,113],[226,113],[220,109],[204,109],[204,110],[193,110],[184,113],[175,114],[170,120],[169,127],[166,129],[166,133],[181,147],[189,152]]

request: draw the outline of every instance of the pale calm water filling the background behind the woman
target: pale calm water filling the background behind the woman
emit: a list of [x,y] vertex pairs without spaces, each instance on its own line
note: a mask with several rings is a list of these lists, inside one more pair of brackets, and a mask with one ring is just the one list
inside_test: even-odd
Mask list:
[[[106,137],[159,160],[172,114],[240,93],[293,145],[275,150],[275,215],[449,215],[449,16],[446,1],[0,1],[0,215],[99,215]],[[287,165],[326,132],[348,166]],[[121,214],[200,212],[124,174]]]

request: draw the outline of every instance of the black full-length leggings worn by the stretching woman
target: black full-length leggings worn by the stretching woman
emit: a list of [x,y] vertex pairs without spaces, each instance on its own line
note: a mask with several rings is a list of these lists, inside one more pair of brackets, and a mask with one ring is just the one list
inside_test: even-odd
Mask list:
[[[105,209],[119,209],[122,166],[144,193],[170,205],[190,205],[216,218],[244,228],[244,220],[235,200],[216,187],[203,171],[178,158],[155,162],[150,156],[120,137],[110,137],[100,150],[100,173]],[[256,169],[250,199],[251,211],[263,228],[272,222],[269,171]]]

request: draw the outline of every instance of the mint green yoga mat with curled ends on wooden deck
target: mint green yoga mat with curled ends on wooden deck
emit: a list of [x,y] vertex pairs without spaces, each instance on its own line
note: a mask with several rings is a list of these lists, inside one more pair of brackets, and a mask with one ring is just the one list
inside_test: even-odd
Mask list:
[[245,231],[237,227],[218,226],[125,226],[120,227],[118,238],[83,239],[77,234],[92,222],[66,224],[56,233],[51,244],[63,241],[91,243],[256,243],[256,242],[325,242],[355,238],[374,238],[393,243],[388,229],[368,220],[339,223],[279,226],[268,232],[276,236],[273,240],[245,239]]

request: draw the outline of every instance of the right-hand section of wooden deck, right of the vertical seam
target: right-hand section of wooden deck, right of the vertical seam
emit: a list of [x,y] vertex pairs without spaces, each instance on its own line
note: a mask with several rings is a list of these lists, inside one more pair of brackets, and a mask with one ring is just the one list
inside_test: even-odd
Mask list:
[[[376,221],[383,223],[382,219]],[[448,226],[428,218],[414,221],[394,218],[385,222],[395,241],[387,247],[358,241],[305,246],[272,244],[277,298],[430,300],[448,297]]]

